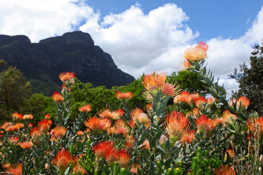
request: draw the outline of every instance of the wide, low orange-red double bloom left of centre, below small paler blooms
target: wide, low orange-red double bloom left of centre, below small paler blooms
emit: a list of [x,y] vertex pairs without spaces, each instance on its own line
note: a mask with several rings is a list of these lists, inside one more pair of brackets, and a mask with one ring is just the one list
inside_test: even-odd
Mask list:
[[93,131],[108,130],[111,126],[110,119],[99,119],[97,117],[91,117],[84,121],[84,125]]

